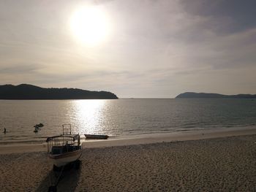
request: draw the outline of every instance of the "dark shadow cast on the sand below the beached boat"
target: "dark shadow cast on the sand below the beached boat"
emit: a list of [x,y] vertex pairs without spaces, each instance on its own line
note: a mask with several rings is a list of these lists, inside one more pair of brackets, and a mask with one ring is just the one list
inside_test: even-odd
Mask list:
[[[77,187],[77,183],[80,177],[80,169],[81,167],[79,169],[76,169],[74,166],[65,166],[61,174],[61,177],[59,178],[57,191],[75,191],[75,188]],[[50,172],[45,177],[45,179],[42,180],[42,183],[40,183],[36,191],[48,191],[51,185],[56,184],[60,173],[61,170],[50,170]]]

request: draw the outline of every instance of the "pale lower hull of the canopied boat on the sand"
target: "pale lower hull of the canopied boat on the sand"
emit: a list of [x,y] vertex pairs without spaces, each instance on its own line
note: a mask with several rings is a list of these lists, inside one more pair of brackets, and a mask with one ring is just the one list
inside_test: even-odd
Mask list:
[[48,158],[50,159],[50,161],[53,162],[55,166],[64,166],[73,161],[78,160],[78,158],[80,158],[81,155],[82,155],[82,150],[80,149],[80,150],[75,150],[72,152],[56,154],[56,155],[49,154]]

